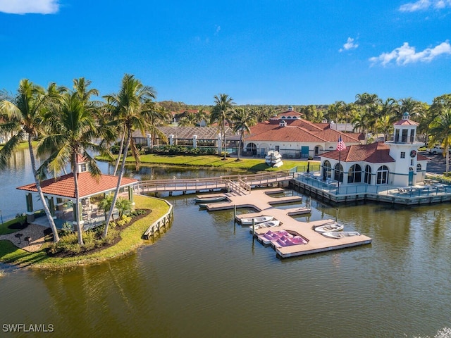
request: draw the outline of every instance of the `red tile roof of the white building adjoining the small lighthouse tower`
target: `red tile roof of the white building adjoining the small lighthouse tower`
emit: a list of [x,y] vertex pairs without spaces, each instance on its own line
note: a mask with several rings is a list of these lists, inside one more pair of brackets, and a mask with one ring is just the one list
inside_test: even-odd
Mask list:
[[369,162],[369,163],[389,163],[395,162],[390,156],[390,147],[384,142],[376,142],[371,144],[356,144],[347,146],[345,150],[328,151],[321,157],[331,158],[343,162]]

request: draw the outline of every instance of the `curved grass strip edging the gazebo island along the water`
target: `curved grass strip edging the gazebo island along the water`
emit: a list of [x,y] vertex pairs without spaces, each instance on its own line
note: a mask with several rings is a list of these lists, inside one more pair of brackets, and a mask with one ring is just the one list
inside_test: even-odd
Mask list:
[[149,208],[152,210],[152,213],[137,220],[123,230],[121,232],[121,240],[117,244],[106,249],[87,253],[82,256],[58,258],[47,255],[45,249],[49,246],[49,242],[46,242],[41,250],[30,253],[18,249],[18,247],[11,242],[4,240],[0,241],[0,261],[3,263],[30,266],[32,268],[55,270],[82,264],[100,263],[135,251],[138,247],[150,243],[149,241],[142,239],[142,234],[147,230],[149,225],[154,223],[168,211],[168,205],[164,201],[146,196],[135,196],[135,204],[136,208]]

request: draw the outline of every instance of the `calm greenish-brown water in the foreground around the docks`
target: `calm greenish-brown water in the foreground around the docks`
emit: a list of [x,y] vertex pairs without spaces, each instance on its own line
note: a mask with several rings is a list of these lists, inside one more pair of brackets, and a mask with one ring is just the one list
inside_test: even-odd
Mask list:
[[[449,204],[340,207],[340,222],[373,244],[280,260],[233,211],[209,213],[193,198],[172,197],[171,227],[125,258],[58,273],[1,265],[2,328],[53,324],[58,337],[450,337]],[[304,221],[337,216],[312,206]]]

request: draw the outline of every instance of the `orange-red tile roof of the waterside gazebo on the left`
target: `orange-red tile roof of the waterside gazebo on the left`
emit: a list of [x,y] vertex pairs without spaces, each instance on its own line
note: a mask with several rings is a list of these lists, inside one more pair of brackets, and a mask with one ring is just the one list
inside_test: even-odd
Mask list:
[[[121,187],[136,183],[138,180],[134,178],[123,177]],[[118,177],[113,175],[101,175],[96,178],[90,173],[78,174],[78,191],[80,198],[100,194],[112,189],[116,189],[118,184]],[[44,194],[63,196],[70,199],[75,199],[75,182],[73,180],[73,173],[56,177],[56,179],[44,180],[41,182],[42,192]],[[28,192],[37,192],[36,184],[31,183],[18,187],[17,189],[26,190]]]

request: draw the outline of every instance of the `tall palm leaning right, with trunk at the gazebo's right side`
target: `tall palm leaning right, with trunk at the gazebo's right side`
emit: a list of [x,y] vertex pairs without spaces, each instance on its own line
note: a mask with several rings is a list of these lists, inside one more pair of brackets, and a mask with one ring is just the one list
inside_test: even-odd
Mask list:
[[119,157],[122,155],[122,164],[119,170],[118,184],[114,192],[111,208],[106,218],[104,237],[108,234],[111,215],[113,215],[119,189],[121,189],[122,177],[125,172],[125,159],[129,146],[135,158],[135,166],[138,168],[140,165],[140,155],[135,142],[132,140],[132,132],[137,129],[144,134],[146,128],[152,127],[152,122],[149,121],[154,121],[156,115],[159,115],[155,113],[154,102],[152,102],[152,99],[155,99],[155,97],[156,92],[152,87],[144,86],[140,80],[128,74],[124,75],[118,94],[104,96],[107,110],[110,111],[113,118],[112,123],[118,127],[124,127],[125,130],[125,144],[123,149],[121,149],[121,154],[119,154]]

